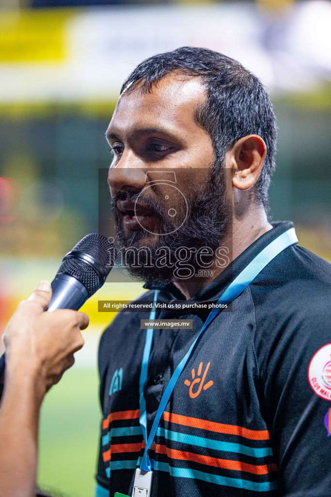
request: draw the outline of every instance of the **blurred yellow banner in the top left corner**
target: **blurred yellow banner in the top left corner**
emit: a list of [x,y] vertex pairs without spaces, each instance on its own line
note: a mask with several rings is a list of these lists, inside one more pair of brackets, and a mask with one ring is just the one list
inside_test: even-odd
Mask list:
[[59,63],[66,59],[70,9],[0,13],[0,63]]

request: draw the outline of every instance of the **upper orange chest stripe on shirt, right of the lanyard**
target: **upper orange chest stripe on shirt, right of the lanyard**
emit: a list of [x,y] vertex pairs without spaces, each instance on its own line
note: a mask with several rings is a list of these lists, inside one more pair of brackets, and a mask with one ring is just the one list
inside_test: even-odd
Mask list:
[[216,433],[225,433],[227,435],[240,435],[250,440],[269,440],[268,430],[250,430],[243,426],[235,424],[223,424],[215,421],[207,421],[199,417],[182,416],[181,414],[167,413],[164,411],[163,418],[172,423],[191,426],[193,428],[201,428]]

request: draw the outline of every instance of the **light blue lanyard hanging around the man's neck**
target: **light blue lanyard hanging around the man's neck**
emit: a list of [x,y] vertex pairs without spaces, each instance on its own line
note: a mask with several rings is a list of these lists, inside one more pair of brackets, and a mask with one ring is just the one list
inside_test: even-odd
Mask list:
[[[230,302],[233,302],[238,295],[242,293],[243,290],[254,280],[254,278],[262,271],[262,269],[268,264],[276,255],[278,255],[280,252],[282,252],[285,248],[289,247],[290,245],[293,245],[298,242],[298,239],[295,234],[294,228],[290,228],[289,230],[285,231],[285,233],[282,233],[279,237],[277,237],[275,240],[273,240],[267,247],[265,247],[249,264],[248,266],[245,267],[241,271],[240,274],[233,280],[233,282],[228,286],[228,288],[225,290],[225,292],[221,295],[219,298],[216,306],[218,304],[224,303],[224,304],[229,304]],[[157,293],[158,290],[155,291],[154,294],[154,303],[153,303],[153,308],[152,311],[150,312],[149,319],[155,319],[155,303],[157,300]],[[209,316],[207,317],[204,325],[201,328],[201,331],[199,332],[197,338],[194,340],[192,343],[191,347],[189,348],[189,351],[185,354],[181,362],[178,364],[176,367],[172,377],[170,378],[170,381],[164,391],[164,394],[161,398],[158,410],[156,412],[149,436],[147,438],[147,423],[146,423],[146,403],[145,399],[143,396],[143,385],[147,379],[147,370],[148,370],[148,360],[149,360],[149,355],[150,355],[150,350],[152,346],[152,340],[153,340],[153,333],[154,330],[150,329],[146,331],[146,338],[145,338],[145,346],[143,350],[143,355],[142,355],[142,362],[141,362],[141,372],[140,372],[140,379],[139,379],[139,408],[140,408],[140,426],[142,429],[143,433],[143,438],[146,444],[145,447],[145,452],[140,464],[140,470],[141,471],[151,471],[151,464],[148,456],[148,449],[151,445],[151,443],[154,440],[155,433],[157,430],[157,427],[159,425],[160,419],[162,417],[162,414],[168,404],[168,401],[170,399],[170,396],[172,394],[172,391],[176,385],[176,382],[182,373],[190,355],[192,354],[192,351],[202,335],[203,331],[207,328],[207,326],[211,323],[211,321],[217,316],[217,314],[220,312],[220,308],[214,308]]]

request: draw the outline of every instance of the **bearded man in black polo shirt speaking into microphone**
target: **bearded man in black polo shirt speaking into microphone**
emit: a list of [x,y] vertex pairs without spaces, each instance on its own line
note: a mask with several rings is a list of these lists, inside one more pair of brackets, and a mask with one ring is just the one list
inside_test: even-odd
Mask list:
[[[262,83],[210,50],[156,55],[124,83],[106,135],[118,244],[146,282],[138,302],[155,306],[101,338],[96,496],[330,495],[330,265],[292,223],[268,222]],[[176,272],[183,260],[193,271]],[[148,318],[192,329],[145,331]]]

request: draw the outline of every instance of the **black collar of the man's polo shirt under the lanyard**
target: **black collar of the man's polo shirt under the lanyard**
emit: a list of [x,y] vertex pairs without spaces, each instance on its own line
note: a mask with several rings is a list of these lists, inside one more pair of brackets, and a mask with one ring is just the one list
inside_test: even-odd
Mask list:
[[[272,230],[259,237],[252,245],[236,257],[215,279],[208,283],[189,300],[211,300],[223,291],[240,272],[279,235],[293,227],[291,221],[275,221],[270,223]],[[173,283],[145,283],[143,288],[160,290],[161,300],[186,300],[182,292]]]

